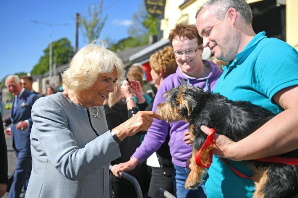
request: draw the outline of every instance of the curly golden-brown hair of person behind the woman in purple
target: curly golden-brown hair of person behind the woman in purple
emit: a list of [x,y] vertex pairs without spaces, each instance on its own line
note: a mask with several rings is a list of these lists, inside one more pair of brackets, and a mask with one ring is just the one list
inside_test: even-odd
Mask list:
[[173,48],[170,46],[165,46],[164,49],[152,54],[149,64],[158,75],[160,74],[160,68],[162,68],[163,78],[175,73],[178,67],[173,54]]

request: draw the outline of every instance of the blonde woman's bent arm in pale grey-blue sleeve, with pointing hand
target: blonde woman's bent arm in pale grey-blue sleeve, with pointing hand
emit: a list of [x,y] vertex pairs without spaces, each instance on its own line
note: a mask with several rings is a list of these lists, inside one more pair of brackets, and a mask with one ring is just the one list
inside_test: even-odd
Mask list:
[[[161,119],[153,112],[139,112],[133,119],[122,123],[113,131],[122,141],[139,130],[147,130],[153,117]],[[43,97],[35,102],[32,120],[34,125],[31,133],[37,136],[44,152],[59,173],[70,180],[81,179],[121,156],[110,131],[90,141],[84,148],[79,148],[68,127],[64,109],[50,98]],[[86,130],[92,129],[86,127]]]

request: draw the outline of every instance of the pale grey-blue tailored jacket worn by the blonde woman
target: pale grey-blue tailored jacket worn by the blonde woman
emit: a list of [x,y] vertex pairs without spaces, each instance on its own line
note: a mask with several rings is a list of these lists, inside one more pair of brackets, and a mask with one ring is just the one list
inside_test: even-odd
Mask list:
[[34,103],[26,198],[109,197],[109,163],[121,154],[103,107],[88,111],[61,92]]

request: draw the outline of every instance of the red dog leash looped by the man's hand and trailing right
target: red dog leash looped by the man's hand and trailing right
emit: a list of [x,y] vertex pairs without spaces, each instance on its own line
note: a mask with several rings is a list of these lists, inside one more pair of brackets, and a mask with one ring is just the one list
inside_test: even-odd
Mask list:
[[[211,130],[211,135],[207,136],[207,140],[205,141],[205,143],[203,144],[203,146],[201,147],[201,149],[196,153],[196,164],[199,167],[204,167],[204,168],[209,168],[212,162],[212,156],[213,156],[213,150],[210,150],[209,153],[209,158],[210,158],[210,163],[207,166],[204,166],[201,163],[201,151],[208,148],[210,145],[213,144],[214,141],[214,132],[215,129],[214,128],[210,128]],[[233,170],[233,172],[235,174],[237,174],[240,177],[244,177],[247,179],[251,179],[250,177],[247,177],[246,175],[240,173],[238,170],[234,169],[227,161],[227,159],[219,157],[219,159],[221,159],[228,167],[230,167],[231,170]],[[287,165],[295,165],[298,166],[298,159],[296,158],[286,158],[286,157],[279,157],[279,156],[272,156],[272,157],[263,157],[263,158],[259,158],[259,159],[254,159],[255,161],[263,161],[263,162],[273,162],[273,163],[281,163],[281,164],[287,164]]]

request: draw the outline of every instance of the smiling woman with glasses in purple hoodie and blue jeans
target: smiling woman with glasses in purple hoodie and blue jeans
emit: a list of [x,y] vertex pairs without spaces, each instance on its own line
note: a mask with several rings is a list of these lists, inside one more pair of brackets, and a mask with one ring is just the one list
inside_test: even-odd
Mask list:
[[[162,95],[171,88],[181,84],[191,84],[205,91],[212,91],[222,74],[222,71],[219,70],[215,63],[202,60],[203,41],[195,25],[178,24],[175,29],[171,30],[169,41],[173,46],[173,53],[178,68],[174,74],[169,75],[160,84],[154,100],[153,111],[156,111],[156,106],[160,102],[165,101]],[[170,133],[170,153],[175,169],[175,177],[173,175],[173,179],[176,196],[178,198],[206,197],[205,189],[202,186],[192,191],[184,188],[185,180],[189,173],[186,168],[186,161],[192,152],[188,123],[184,121],[168,124],[164,120],[154,119],[141,146],[129,161],[114,165],[112,169],[113,174],[119,176],[120,171],[132,170],[136,165],[145,161],[165,142],[168,131]]]

